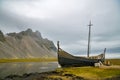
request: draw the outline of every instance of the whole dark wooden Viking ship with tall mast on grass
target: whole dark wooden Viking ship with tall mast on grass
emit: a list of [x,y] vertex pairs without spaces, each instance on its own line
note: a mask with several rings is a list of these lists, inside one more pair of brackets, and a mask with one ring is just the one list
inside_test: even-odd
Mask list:
[[94,66],[95,63],[103,63],[105,61],[105,52],[106,48],[104,49],[104,52],[102,54],[99,54],[97,56],[91,56],[89,57],[89,45],[90,45],[90,27],[91,22],[89,25],[89,39],[88,39],[88,57],[80,57],[80,56],[73,56],[69,54],[68,52],[62,50],[59,46],[59,41],[57,42],[58,46],[58,63],[62,67],[68,67],[68,66]]

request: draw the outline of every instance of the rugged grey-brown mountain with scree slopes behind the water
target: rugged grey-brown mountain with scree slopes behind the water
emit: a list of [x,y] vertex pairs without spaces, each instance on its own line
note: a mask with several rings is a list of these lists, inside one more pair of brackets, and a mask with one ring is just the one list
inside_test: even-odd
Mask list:
[[49,58],[56,57],[56,47],[39,31],[31,29],[4,35],[0,31],[0,59],[3,58]]

